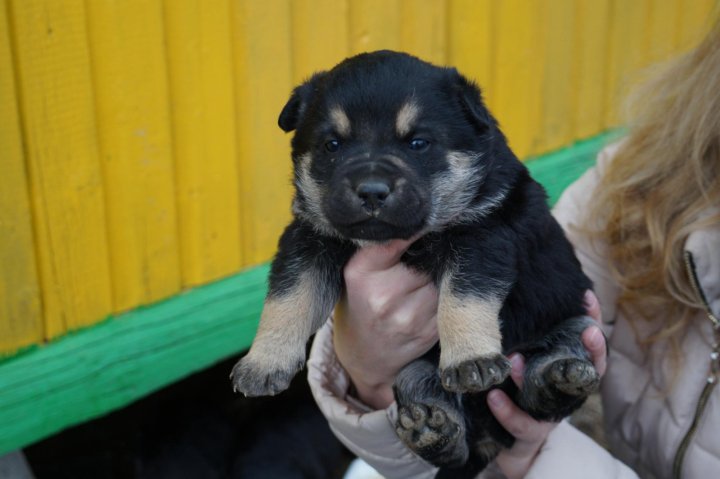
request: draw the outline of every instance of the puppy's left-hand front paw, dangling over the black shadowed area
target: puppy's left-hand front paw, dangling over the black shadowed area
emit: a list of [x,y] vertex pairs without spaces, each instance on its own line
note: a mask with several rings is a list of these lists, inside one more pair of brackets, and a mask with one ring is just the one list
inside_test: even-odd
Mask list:
[[304,364],[305,360],[300,359],[288,368],[268,368],[245,356],[230,373],[233,390],[247,397],[274,396],[290,386],[290,381]]

